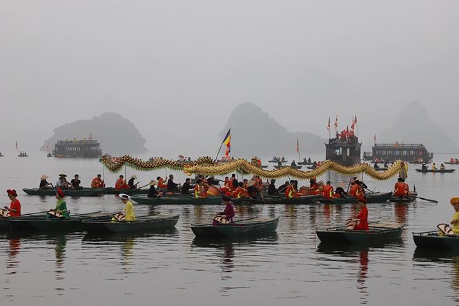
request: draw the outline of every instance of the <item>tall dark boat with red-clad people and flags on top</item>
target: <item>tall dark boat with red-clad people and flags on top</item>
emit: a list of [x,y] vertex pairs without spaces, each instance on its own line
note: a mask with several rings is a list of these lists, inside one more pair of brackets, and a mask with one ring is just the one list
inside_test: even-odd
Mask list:
[[325,144],[325,159],[340,162],[344,166],[359,164],[361,146],[354,133],[337,134],[337,137],[329,138],[329,143]]

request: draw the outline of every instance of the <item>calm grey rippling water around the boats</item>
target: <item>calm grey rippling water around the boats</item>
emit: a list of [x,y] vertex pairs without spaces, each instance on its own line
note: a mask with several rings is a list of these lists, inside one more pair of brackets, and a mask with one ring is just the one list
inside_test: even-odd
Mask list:
[[[43,156],[41,156],[43,155]],[[436,155],[436,162],[449,160]],[[102,173],[97,160],[58,160],[36,153],[0,157],[2,191],[36,187],[39,177],[78,173],[84,186]],[[416,173],[407,182],[438,204],[369,204],[369,221],[405,222],[399,241],[372,247],[326,247],[315,227],[343,224],[355,205],[242,205],[238,218],[280,216],[277,233],[243,240],[197,240],[191,223],[211,220],[223,207],[135,205],[137,216],[180,213],[173,230],[123,235],[86,233],[21,236],[0,233],[1,305],[447,305],[459,302],[459,253],[416,251],[413,231],[449,222],[449,198],[458,195],[458,173]],[[455,166],[451,166],[455,167]],[[459,168],[459,166],[457,166]],[[124,171],[123,171],[124,174]],[[137,174],[141,185],[165,171]],[[174,172],[177,182],[185,176]],[[112,185],[119,173],[104,173]],[[54,179],[52,179],[54,177]],[[348,177],[331,175],[333,184]],[[324,175],[321,180],[327,180]],[[395,178],[364,178],[370,189],[390,191]],[[280,180],[282,182],[282,180]],[[305,183],[305,182],[300,182]],[[4,193],[2,205],[9,205]],[[44,211],[55,198],[19,195],[23,213]],[[114,195],[68,198],[72,213],[119,211]]]

